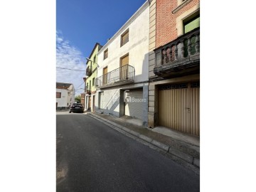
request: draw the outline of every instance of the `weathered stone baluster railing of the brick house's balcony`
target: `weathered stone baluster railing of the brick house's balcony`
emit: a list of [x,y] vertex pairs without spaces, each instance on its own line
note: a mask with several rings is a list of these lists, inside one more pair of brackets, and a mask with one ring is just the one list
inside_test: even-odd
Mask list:
[[164,46],[156,48],[156,68],[161,65],[170,65],[178,60],[200,55],[200,28],[176,38]]

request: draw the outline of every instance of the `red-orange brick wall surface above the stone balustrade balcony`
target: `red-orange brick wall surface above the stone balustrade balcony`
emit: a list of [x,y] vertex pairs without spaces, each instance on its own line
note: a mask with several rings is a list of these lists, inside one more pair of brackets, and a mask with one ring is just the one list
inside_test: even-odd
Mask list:
[[174,14],[172,11],[178,7],[179,0],[157,0],[156,1],[156,48],[174,41],[178,37],[176,18],[191,9],[199,0],[186,0],[186,4]]

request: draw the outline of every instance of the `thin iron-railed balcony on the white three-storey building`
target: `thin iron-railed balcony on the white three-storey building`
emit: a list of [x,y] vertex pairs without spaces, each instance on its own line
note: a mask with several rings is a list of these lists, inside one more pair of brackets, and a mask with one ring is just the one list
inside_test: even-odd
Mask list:
[[112,87],[117,85],[130,84],[134,82],[135,70],[131,65],[124,65],[121,68],[106,73],[96,78],[95,86],[99,88]]

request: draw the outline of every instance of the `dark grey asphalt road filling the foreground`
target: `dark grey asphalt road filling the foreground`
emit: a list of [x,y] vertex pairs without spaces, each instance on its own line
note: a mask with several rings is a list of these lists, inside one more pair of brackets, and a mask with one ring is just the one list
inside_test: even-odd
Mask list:
[[200,191],[193,171],[86,114],[56,128],[57,191]]

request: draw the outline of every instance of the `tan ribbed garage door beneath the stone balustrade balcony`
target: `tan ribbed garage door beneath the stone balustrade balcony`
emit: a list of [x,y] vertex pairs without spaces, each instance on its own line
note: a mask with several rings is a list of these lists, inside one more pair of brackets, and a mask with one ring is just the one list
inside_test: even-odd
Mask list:
[[199,91],[199,82],[159,87],[159,124],[199,136]]

